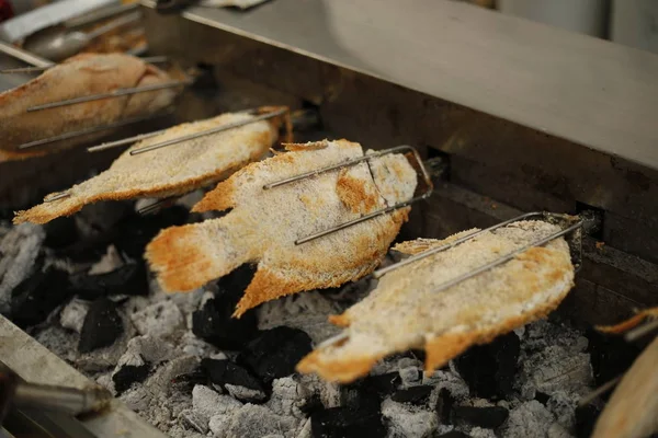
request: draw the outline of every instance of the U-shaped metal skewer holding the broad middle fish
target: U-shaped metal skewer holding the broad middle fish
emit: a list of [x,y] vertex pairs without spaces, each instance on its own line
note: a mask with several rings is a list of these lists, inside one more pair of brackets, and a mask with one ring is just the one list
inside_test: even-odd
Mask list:
[[431,180],[428,171],[426,170],[426,168],[424,168],[424,165],[422,163],[422,160],[420,159],[420,155],[419,155],[418,151],[416,150],[416,148],[412,148],[410,146],[406,146],[406,145],[405,146],[397,146],[395,148],[386,149],[386,150],[383,150],[381,152],[376,152],[376,153],[373,153],[373,154],[370,154],[370,155],[363,155],[363,157],[360,157],[360,158],[356,158],[356,159],[348,160],[348,161],[345,161],[343,163],[340,163],[340,164],[329,165],[327,168],[318,169],[318,170],[311,171],[311,172],[306,172],[306,173],[303,173],[300,175],[293,176],[293,177],[290,177],[290,178],[286,178],[286,180],[282,180],[282,181],[275,182],[275,183],[270,183],[270,184],[264,185],[263,189],[270,189],[270,188],[273,188],[273,187],[279,187],[279,186],[282,186],[284,184],[290,184],[290,183],[293,183],[295,181],[299,181],[299,180],[303,180],[303,178],[307,178],[307,177],[311,177],[311,176],[315,176],[315,175],[319,175],[321,173],[330,172],[330,171],[333,171],[333,170],[337,170],[337,169],[351,166],[351,165],[354,165],[354,164],[360,163],[362,161],[366,161],[366,160],[370,160],[370,159],[373,159],[373,158],[377,158],[377,157],[382,157],[382,155],[389,154],[389,153],[396,153],[396,152],[399,152],[399,151],[402,151],[402,150],[408,150],[408,151],[410,151],[410,152],[413,153],[413,158],[418,162],[421,175],[422,175],[422,177],[424,180],[424,183],[427,185],[426,193],[423,193],[420,196],[412,197],[411,199],[406,200],[404,203],[398,203],[398,204],[393,205],[390,207],[386,207],[386,208],[383,208],[381,210],[373,211],[373,212],[371,212],[368,215],[365,215],[365,216],[362,216],[360,218],[350,220],[348,222],[343,222],[341,224],[338,224],[338,226],[329,228],[327,230],[317,232],[315,234],[310,234],[310,235],[307,235],[305,238],[297,239],[295,241],[295,245],[300,245],[303,243],[310,242],[311,240],[316,240],[316,239],[322,238],[322,237],[325,237],[327,234],[331,234],[333,232],[343,230],[343,229],[345,229],[348,227],[355,226],[356,223],[361,223],[361,222],[364,222],[366,220],[376,218],[377,216],[386,215],[386,214],[388,214],[390,211],[394,211],[394,210],[407,207],[407,206],[409,206],[409,205],[411,205],[411,204],[413,204],[413,203],[416,203],[418,200],[428,198],[432,194],[432,191],[433,191],[432,180]]

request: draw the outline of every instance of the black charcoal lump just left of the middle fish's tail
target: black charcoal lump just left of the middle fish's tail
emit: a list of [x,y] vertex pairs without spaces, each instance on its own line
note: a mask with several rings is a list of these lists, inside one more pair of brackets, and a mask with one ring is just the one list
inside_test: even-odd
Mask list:
[[134,212],[116,223],[111,241],[120,252],[127,254],[131,258],[141,260],[144,249],[161,229],[182,226],[186,221],[188,210],[181,206],[163,208],[152,215]]

